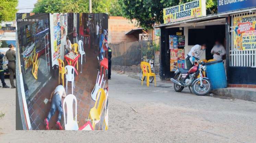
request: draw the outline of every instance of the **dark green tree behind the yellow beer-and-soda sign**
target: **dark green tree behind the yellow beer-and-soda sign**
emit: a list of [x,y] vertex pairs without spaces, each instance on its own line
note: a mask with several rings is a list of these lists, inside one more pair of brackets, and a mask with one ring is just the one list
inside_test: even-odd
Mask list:
[[[163,23],[163,8],[193,0],[119,0],[123,16],[137,21],[137,25],[151,29]],[[207,14],[217,13],[217,0],[206,0]],[[211,10],[211,12],[209,11]]]

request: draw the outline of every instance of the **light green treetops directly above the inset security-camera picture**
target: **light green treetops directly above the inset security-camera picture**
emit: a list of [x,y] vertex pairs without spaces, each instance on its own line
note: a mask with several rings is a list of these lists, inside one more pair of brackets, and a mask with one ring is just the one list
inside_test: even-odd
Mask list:
[[[93,0],[93,13],[109,13],[118,15],[118,9],[112,5],[117,5],[117,0]],[[115,10],[112,10],[112,9]],[[88,13],[88,0],[38,0],[33,9],[34,13]]]

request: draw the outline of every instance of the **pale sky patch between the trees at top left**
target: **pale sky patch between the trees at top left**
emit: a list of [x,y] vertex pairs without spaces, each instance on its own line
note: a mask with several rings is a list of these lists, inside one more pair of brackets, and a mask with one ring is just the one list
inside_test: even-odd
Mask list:
[[[19,0],[18,12],[17,13],[30,13],[33,10],[34,4],[37,0]],[[31,9],[28,9],[31,8]],[[20,10],[24,9],[24,10]]]

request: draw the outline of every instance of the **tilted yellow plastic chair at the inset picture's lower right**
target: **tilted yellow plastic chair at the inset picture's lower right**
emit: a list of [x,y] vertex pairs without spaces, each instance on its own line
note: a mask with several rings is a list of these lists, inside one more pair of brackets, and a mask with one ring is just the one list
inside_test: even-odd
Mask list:
[[[92,121],[93,129],[95,128],[95,124],[100,122],[100,116],[102,113],[102,108],[105,107],[105,100],[106,100],[106,93],[105,91],[100,88],[97,93],[96,101],[94,107],[90,109],[89,112],[89,119]],[[97,106],[98,103],[98,106]],[[104,105],[103,105],[104,104]],[[96,108],[97,106],[97,108]]]

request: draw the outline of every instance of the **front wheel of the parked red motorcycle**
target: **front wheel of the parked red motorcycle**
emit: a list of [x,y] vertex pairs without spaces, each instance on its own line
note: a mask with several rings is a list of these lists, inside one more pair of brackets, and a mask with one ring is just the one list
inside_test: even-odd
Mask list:
[[203,85],[200,86],[200,80],[196,80],[192,85],[193,92],[196,95],[204,96],[208,94],[211,90],[211,82],[208,79],[202,79]]

